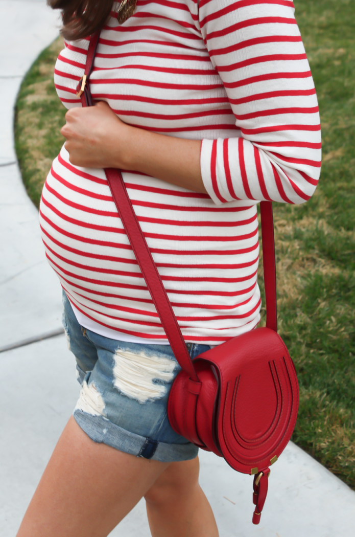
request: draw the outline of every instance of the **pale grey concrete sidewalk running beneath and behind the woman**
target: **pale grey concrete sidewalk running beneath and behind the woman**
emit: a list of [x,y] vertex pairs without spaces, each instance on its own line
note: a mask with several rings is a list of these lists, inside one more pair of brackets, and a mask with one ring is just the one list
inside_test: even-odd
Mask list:
[[[44,0],[0,0],[0,347],[61,329],[61,289],[46,263],[38,213],[13,149],[21,79],[57,35]],[[0,353],[0,535],[14,537],[79,385],[64,336]],[[252,477],[200,452],[201,484],[221,537],[353,535],[355,493],[290,442],[272,466],[261,524],[252,525]],[[149,537],[144,502],[111,534]]]

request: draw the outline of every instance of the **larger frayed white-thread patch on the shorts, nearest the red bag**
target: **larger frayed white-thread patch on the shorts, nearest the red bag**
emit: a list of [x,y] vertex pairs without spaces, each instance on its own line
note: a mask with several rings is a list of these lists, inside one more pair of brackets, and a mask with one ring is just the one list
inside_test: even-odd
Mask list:
[[153,380],[169,382],[174,377],[176,362],[170,358],[117,350],[114,359],[114,386],[139,403],[165,395],[166,387]]

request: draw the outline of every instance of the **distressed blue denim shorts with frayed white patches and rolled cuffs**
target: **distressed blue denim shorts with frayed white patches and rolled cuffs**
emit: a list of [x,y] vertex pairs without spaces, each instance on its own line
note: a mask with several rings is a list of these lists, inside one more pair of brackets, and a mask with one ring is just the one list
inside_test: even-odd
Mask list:
[[[170,345],[128,343],[81,326],[63,293],[63,325],[82,385],[73,416],[94,441],[162,462],[194,459],[198,448],[173,431],[169,391],[181,371]],[[211,348],[187,344],[191,358]]]

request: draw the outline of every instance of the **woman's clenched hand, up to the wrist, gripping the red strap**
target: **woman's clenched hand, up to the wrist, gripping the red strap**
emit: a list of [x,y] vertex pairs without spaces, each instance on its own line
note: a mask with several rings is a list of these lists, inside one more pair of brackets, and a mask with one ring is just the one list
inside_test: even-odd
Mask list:
[[69,161],[85,168],[125,168],[129,135],[135,127],[117,118],[107,103],[71,108],[61,133],[66,138]]

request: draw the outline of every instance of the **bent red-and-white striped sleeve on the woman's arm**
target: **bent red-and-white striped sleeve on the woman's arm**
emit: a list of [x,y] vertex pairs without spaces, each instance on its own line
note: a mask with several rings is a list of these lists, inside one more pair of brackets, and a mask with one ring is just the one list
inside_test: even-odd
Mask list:
[[202,142],[210,197],[305,202],[320,175],[321,131],[293,3],[200,0],[199,25],[240,129]]

